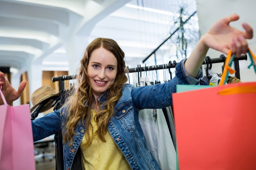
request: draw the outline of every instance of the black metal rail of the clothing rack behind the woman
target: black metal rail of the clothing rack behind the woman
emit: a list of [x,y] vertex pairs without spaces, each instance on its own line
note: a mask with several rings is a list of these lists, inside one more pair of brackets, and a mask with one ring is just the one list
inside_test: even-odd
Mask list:
[[[204,60],[203,64],[214,64],[214,63],[225,63],[226,57],[225,55],[220,55],[219,58],[210,58],[206,57],[206,60]],[[241,55],[239,58],[234,58],[234,68],[235,68],[235,75],[238,79],[240,79],[240,69],[239,69],[239,60],[247,60],[247,54]],[[129,68],[129,73],[137,73],[142,71],[152,71],[152,70],[161,70],[161,69],[167,69],[167,68],[175,68],[175,66],[178,63],[174,60],[173,62],[169,62],[168,64],[159,64],[156,66],[143,66],[143,67],[136,67],[136,68]],[[58,77],[52,77],[52,82],[59,82],[59,90],[60,93],[62,90],[65,90],[64,81],[65,80],[71,80],[76,79],[76,75],[62,75]]]

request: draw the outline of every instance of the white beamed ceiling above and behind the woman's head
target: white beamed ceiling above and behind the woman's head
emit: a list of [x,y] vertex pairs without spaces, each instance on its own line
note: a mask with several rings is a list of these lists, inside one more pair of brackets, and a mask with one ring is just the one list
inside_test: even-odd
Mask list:
[[[196,10],[194,0],[0,0],[0,66],[14,73],[31,64],[69,70],[72,56],[64,44],[74,35],[88,36],[87,43],[97,37],[116,40],[127,64],[135,66],[170,35],[175,13],[185,2],[189,15]],[[195,29],[197,23],[194,18]],[[170,50],[169,42],[158,53],[167,61]]]

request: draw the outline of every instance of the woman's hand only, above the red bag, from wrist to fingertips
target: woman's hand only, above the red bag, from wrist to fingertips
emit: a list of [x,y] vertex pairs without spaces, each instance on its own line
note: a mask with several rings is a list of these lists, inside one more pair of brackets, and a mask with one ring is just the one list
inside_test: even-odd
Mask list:
[[202,36],[201,39],[204,44],[225,54],[231,49],[237,57],[247,53],[248,44],[246,39],[252,39],[253,30],[247,23],[242,24],[245,31],[229,26],[230,22],[238,19],[237,14],[232,14],[215,22],[209,31]]

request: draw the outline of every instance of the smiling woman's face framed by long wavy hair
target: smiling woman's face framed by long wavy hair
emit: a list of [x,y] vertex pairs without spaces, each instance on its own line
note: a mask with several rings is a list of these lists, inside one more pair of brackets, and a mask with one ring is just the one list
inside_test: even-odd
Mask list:
[[117,75],[115,55],[103,47],[95,49],[90,56],[87,73],[94,99],[98,99],[115,81]]

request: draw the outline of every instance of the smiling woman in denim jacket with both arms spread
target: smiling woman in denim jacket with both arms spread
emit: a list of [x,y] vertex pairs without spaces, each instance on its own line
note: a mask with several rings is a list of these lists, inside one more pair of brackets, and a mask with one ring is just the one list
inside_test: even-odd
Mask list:
[[[209,48],[222,53],[231,49],[236,56],[246,53],[246,39],[253,37],[253,31],[246,23],[245,32],[229,26],[238,19],[233,14],[215,22],[190,57],[176,66],[175,78],[155,86],[135,88],[125,84],[124,52],[114,40],[94,40],[81,60],[74,94],[60,110],[32,121],[34,140],[61,130],[65,170],[159,170],[146,145],[138,111],[170,106],[177,84],[198,84],[200,66]],[[21,82],[15,91],[3,73],[0,80],[9,104],[20,97],[26,85]]]

